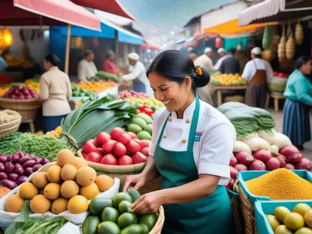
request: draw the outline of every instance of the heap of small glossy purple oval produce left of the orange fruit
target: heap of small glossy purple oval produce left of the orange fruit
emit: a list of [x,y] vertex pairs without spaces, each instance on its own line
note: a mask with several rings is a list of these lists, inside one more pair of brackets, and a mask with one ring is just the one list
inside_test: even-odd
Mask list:
[[7,156],[0,154],[0,184],[12,190],[27,181],[28,176],[46,163],[50,163],[47,158],[39,158],[22,151]]

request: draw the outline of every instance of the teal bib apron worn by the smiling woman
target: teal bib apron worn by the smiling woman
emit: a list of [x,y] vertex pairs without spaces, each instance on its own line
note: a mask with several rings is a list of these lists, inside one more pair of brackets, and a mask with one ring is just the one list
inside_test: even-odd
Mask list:
[[[198,115],[199,99],[196,95],[196,107],[187,141],[187,151],[170,151],[159,146],[167,121],[163,124],[154,153],[155,165],[162,176],[162,189],[178,187],[199,178],[193,157]],[[170,116],[171,113],[168,117]],[[213,194],[196,201],[168,204],[163,208],[165,222],[162,234],[235,233],[231,204],[223,185],[217,185]]]

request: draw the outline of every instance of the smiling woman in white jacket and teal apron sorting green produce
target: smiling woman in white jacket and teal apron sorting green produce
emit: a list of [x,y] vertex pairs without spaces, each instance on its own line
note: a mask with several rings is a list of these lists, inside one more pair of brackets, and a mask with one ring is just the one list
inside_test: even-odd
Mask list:
[[154,97],[165,107],[154,115],[153,137],[142,173],[130,175],[139,189],[162,176],[162,190],[146,193],[131,208],[151,213],[163,205],[162,233],[233,233],[231,205],[224,185],[236,132],[230,121],[199,100],[196,89],[208,84],[207,70],[177,50],[158,54],[147,70]]

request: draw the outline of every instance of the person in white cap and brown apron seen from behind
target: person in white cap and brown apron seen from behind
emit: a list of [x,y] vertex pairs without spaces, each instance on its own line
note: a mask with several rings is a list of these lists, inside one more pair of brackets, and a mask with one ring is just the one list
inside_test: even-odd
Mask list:
[[273,77],[273,70],[267,61],[261,59],[259,47],[251,50],[251,61],[247,62],[243,74],[247,89],[245,104],[264,109],[266,105],[267,83]]

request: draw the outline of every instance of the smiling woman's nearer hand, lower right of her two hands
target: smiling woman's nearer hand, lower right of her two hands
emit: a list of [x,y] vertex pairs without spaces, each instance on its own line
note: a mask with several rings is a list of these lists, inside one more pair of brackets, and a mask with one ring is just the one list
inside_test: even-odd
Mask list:
[[143,194],[130,206],[134,213],[150,214],[155,213],[163,205],[162,190]]

